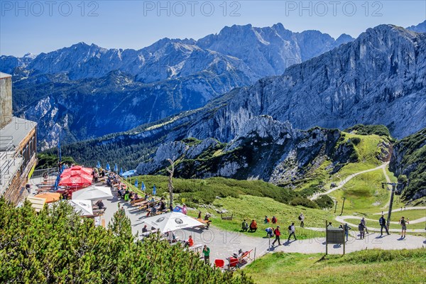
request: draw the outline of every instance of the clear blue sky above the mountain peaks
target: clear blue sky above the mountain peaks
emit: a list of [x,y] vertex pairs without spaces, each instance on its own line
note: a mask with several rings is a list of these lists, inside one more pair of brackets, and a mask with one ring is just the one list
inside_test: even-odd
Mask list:
[[202,38],[234,24],[353,37],[381,23],[417,25],[426,1],[5,1],[0,54],[22,56],[84,41],[140,49],[160,38]]

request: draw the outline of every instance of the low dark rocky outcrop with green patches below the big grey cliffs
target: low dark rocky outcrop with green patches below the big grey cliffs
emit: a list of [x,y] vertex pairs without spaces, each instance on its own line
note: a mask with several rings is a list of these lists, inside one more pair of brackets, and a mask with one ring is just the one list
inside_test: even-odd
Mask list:
[[340,137],[337,129],[300,131],[288,122],[258,116],[247,121],[229,143],[212,138],[195,144],[185,140],[164,143],[136,169],[142,175],[161,173],[166,159],[173,158],[178,161],[175,175],[182,178],[222,176],[283,185],[305,178],[326,160],[330,173],[356,162],[351,155],[354,147],[351,143],[339,145]]

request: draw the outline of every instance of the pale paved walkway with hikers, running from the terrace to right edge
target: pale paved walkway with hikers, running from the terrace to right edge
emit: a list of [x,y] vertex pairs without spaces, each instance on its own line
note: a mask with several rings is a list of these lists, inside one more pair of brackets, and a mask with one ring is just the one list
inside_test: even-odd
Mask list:
[[[116,197],[112,200],[104,200],[104,204],[107,206],[107,210],[104,214],[106,224],[111,221],[114,212],[118,209],[119,203],[124,207],[127,216],[131,219],[133,233],[138,233],[138,236],[140,236],[144,225],[143,219],[145,218],[145,214],[131,207],[128,202],[119,201]],[[349,224],[349,226],[351,225]],[[355,227],[357,228],[357,226],[354,226],[354,228]],[[306,229],[324,231],[323,228]],[[424,232],[425,230],[422,231]],[[239,249],[243,251],[253,250],[251,253],[252,258],[255,256],[255,251],[256,258],[273,251],[285,251],[289,253],[325,253],[324,237],[286,242],[285,236],[283,236],[282,246],[277,246],[277,244],[275,244],[275,246],[270,247],[269,239],[223,231],[214,226],[210,226],[209,229],[184,229],[175,231],[175,234],[181,240],[187,239],[188,236],[192,235],[195,244],[207,244],[211,249],[210,260],[212,263],[214,259],[225,259],[239,251]],[[357,231],[351,231],[349,242],[346,244],[346,252],[361,251],[364,249],[417,249],[426,246],[426,238],[422,236],[408,235],[405,239],[400,239],[399,234],[380,237],[380,234],[373,233],[367,234],[365,239],[359,240],[359,236],[356,234]],[[271,239],[271,244],[272,241],[273,239]],[[342,253],[343,249],[342,246],[329,245],[328,251],[330,254],[339,254]]]

